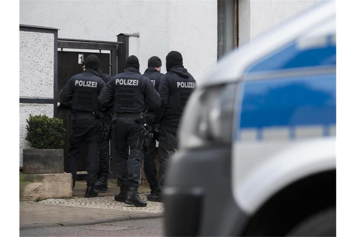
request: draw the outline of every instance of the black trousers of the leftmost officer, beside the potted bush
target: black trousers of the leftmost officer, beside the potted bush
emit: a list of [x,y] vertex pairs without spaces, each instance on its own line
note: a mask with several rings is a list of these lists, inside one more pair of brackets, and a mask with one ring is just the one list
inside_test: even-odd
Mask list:
[[93,115],[79,115],[73,122],[68,151],[67,173],[72,173],[73,183],[77,174],[80,151],[83,140],[88,142],[87,183],[95,183],[99,172],[99,139],[102,129],[100,119]]

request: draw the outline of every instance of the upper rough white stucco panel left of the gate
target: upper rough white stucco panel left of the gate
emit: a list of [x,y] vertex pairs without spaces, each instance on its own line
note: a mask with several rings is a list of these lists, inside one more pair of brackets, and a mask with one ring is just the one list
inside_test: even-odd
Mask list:
[[54,34],[20,31],[20,97],[53,98]]

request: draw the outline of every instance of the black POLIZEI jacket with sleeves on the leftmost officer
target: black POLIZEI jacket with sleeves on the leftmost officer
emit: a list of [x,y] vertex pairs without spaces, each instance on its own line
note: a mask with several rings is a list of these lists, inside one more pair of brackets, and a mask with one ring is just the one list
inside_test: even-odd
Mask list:
[[70,77],[59,95],[60,101],[68,103],[72,101],[73,111],[93,112],[100,110],[98,96],[105,82],[93,69]]

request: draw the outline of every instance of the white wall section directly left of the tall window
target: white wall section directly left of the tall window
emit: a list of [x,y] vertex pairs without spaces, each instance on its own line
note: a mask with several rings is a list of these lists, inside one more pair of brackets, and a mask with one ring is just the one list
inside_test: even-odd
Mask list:
[[[207,69],[216,64],[218,4],[216,1],[168,1],[168,4],[168,51],[182,54],[184,67],[199,86]],[[166,64],[166,55],[162,64]]]

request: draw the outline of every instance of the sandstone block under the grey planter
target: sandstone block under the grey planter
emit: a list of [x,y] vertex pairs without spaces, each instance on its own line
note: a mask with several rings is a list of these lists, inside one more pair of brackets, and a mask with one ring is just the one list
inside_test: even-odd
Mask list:
[[20,201],[72,197],[72,174],[20,174]]

